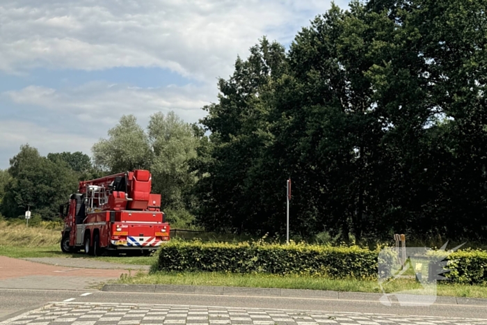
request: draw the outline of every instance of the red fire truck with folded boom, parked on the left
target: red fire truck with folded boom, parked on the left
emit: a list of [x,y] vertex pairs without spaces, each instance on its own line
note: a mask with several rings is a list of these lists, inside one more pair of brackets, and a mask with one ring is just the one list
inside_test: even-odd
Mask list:
[[105,250],[150,253],[169,240],[161,195],[150,193],[149,171],[136,170],[79,182],[59,212],[61,250],[100,255]]

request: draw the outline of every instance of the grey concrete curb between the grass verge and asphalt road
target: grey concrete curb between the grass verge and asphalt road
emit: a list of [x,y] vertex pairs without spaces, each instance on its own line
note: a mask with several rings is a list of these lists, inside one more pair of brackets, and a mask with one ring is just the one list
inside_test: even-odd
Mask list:
[[[104,292],[148,292],[176,294],[212,294],[221,296],[280,296],[287,298],[314,298],[328,300],[371,301],[379,302],[383,294],[367,292],[337,292],[324,290],[298,290],[257,287],[210,287],[198,285],[127,285],[108,284],[101,289]],[[437,296],[436,304],[479,305],[487,306],[487,299]]]

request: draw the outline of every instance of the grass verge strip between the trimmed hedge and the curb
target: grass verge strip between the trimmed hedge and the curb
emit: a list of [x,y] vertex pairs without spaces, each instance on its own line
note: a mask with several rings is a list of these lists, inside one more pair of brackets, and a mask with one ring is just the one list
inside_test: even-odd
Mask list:
[[[378,283],[373,280],[335,280],[312,276],[274,276],[270,274],[222,274],[222,273],[138,273],[121,276],[112,283],[203,285],[226,287],[262,287],[305,290],[333,290],[340,292],[381,293]],[[412,279],[398,279],[384,285],[387,293],[404,290],[419,290],[421,285]],[[426,292],[425,294],[431,294]],[[477,285],[438,285],[438,296],[460,296],[487,298],[487,287]]]

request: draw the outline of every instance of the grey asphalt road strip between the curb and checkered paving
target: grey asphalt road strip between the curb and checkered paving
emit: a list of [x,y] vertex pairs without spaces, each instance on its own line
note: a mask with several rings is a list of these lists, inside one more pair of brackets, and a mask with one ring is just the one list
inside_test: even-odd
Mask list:
[[466,317],[487,319],[485,305],[449,305],[436,303],[425,307],[383,306],[378,301],[333,300],[266,296],[216,296],[211,294],[130,293],[70,290],[0,290],[0,322],[26,310],[50,302],[72,303],[138,303],[171,306],[214,306],[222,308],[265,308],[314,310],[319,312],[358,312],[361,314],[393,314]]

